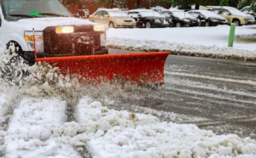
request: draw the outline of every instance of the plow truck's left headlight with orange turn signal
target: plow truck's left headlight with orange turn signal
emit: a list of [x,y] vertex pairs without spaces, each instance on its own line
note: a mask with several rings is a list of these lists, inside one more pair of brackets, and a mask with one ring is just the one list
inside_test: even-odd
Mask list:
[[36,42],[36,50],[38,53],[44,52],[44,36],[43,31],[25,31],[24,38],[29,50],[34,51],[34,37]]

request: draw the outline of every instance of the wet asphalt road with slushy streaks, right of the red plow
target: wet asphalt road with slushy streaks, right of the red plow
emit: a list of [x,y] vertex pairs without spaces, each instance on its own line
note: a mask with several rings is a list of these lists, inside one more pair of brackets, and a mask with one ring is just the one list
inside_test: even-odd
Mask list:
[[133,92],[137,97],[120,100],[122,108],[217,134],[256,138],[255,62],[169,55],[165,83],[147,93]]

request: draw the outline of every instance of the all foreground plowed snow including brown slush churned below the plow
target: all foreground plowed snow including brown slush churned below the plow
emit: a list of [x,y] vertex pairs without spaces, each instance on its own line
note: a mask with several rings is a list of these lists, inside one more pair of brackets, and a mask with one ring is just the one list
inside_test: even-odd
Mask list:
[[69,76],[55,75],[57,70],[44,64],[29,71],[23,85],[1,81],[3,157],[256,156],[254,139],[216,135],[195,125],[162,122],[105,105],[128,97],[134,89],[147,93],[147,88],[81,85]]

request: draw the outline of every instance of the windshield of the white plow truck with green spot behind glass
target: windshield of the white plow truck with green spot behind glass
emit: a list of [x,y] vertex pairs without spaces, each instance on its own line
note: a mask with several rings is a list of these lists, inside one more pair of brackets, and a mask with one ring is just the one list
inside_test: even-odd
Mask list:
[[58,0],[3,0],[1,5],[7,20],[45,16],[72,16]]

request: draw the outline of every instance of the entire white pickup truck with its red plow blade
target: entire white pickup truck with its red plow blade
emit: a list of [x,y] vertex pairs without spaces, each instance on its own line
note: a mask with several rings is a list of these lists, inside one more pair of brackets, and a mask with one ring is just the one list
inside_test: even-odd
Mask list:
[[[1,0],[1,51],[84,80],[164,83],[168,52],[108,54],[108,25],[73,17],[58,0]],[[15,76],[15,75],[13,75]]]

